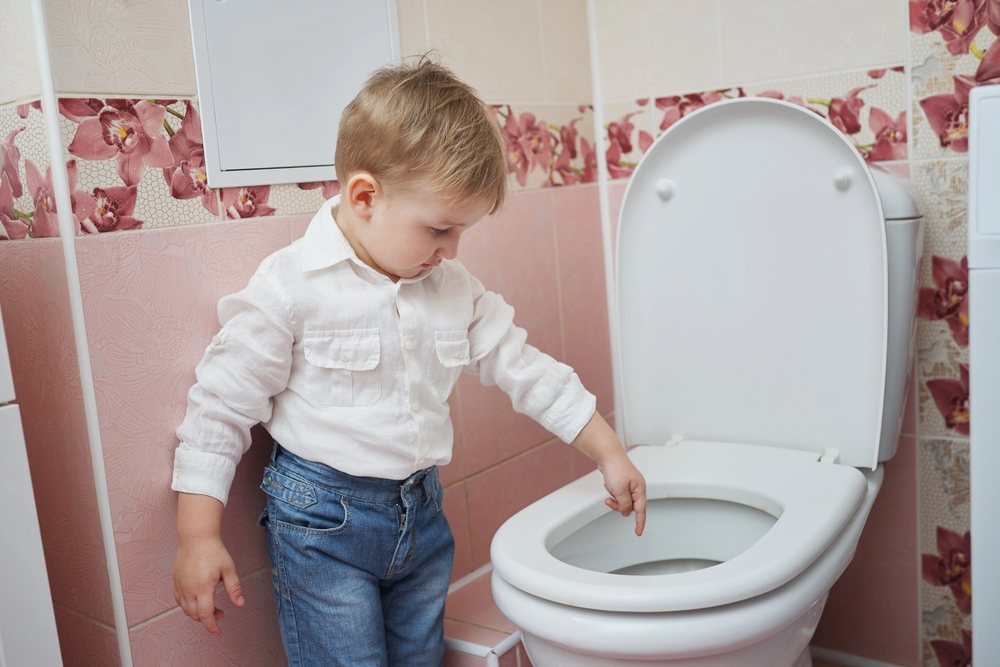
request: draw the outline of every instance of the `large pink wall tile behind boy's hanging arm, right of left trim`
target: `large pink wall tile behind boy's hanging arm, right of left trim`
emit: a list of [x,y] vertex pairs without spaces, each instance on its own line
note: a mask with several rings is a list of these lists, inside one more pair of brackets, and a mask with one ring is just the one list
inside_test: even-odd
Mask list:
[[[216,305],[287,245],[288,221],[257,218],[82,238],[77,242],[118,561],[130,625],[174,605],[174,431],[194,367],[219,328]],[[237,570],[266,560],[253,529],[262,501],[258,447],[226,511]],[[263,444],[263,447],[260,445]],[[254,473],[251,468],[256,468]]]

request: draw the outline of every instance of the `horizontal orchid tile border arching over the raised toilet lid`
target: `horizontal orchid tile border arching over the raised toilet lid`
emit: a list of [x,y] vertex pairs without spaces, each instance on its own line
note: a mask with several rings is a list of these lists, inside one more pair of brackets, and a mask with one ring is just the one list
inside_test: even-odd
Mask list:
[[905,67],[898,65],[609,104],[608,172],[611,178],[629,177],[656,136],[696,109],[736,97],[799,104],[833,123],[867,161],[904,160],[909,154],[907,81]]

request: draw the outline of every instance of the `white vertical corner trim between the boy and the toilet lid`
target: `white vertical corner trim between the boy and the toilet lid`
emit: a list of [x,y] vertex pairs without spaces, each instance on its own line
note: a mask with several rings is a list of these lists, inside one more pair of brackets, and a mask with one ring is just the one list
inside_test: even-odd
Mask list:
[[597,43],[597,5],[587,0],[587,43],[590,46],[590,88],[594,107],[594,151],[597,154],[597,194],[601,207],[601,241],[604,246],[604,289],[608,300],[608,337],[611,341],[611,384],[615,400],[615,433],[626,447],[625,404],[622,401],[621,355],[618,349],[618,301],[615,297],[614,234],[608,199],[608,161],[604,155],[604,98],[601,93],[601,60]]

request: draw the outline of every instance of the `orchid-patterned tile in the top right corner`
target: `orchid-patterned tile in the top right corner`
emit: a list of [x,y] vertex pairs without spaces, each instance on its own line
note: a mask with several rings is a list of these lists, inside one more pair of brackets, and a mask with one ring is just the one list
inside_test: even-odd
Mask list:
[[965,153],[969,90],[1000,82],[1000,5],[911,0],[909,6],[914,154]]

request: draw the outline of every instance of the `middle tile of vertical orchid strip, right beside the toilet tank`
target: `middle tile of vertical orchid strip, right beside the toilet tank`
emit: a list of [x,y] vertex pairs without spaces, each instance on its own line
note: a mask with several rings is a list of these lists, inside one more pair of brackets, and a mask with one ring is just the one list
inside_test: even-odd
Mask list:
[[968,161],[920,161],[913,186],[924,211],[917,326],[921,435],[969,434]]

